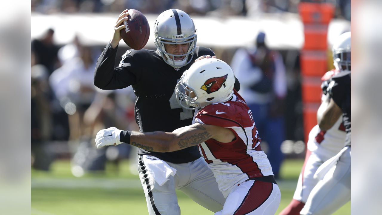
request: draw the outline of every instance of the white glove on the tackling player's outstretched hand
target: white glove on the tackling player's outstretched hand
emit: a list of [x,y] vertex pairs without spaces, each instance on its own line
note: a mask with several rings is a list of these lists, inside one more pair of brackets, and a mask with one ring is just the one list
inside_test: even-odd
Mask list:
[[95,146],[101,148],[108,145],[118,145],[121,144],[120,134],[122,130],[116,127],[110,127],[108,129],[100,130],[95,136]]

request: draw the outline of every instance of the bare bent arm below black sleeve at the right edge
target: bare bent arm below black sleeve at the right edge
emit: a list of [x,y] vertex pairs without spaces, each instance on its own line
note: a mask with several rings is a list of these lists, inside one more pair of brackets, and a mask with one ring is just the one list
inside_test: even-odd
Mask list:
[[317,124],[321,130],[329,130],[338,118],[342,115],[342,110],[330,96],[322,101],[317,111]]

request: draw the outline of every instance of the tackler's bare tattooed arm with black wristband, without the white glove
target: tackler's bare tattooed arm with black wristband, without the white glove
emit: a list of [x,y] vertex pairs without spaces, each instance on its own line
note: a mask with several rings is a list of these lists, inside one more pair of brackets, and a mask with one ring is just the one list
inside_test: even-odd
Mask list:
[[213,138],[219,142],[231,142],[235,135],[230,129],[195,123],[173,132],[132,132],[130,145],[147,151],[169,152],[199,145]]

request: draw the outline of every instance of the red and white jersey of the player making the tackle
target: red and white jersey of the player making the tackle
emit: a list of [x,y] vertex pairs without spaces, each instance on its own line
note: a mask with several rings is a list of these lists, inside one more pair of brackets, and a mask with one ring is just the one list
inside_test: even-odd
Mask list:
[[260,147],[261,138],[252,112],[236,91],[230,101],[200,109],[194,122],[225,127],[235,134],[229,143],[209,139],[199,145],[225,197],[234,185],[247,179],[273,176],[267,155]]

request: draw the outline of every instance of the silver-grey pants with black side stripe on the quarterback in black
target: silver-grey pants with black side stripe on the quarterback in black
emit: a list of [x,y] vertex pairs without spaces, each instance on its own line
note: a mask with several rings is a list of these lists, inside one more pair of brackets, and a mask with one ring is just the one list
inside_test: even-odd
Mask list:
[[162,186],[153,180],[153,175],[161,170],[156,169],[155,165],[150,165],[150,162],[155,161],[139,157],[138,172],[146,195],[149,215],[180,215],[175,189],[184,192],[197,204],[212,212],[223,209],[225,198],[219,191],[214,174],[204,158],[181,164],[166,162],[176,169],[176,174],[170,175]]

